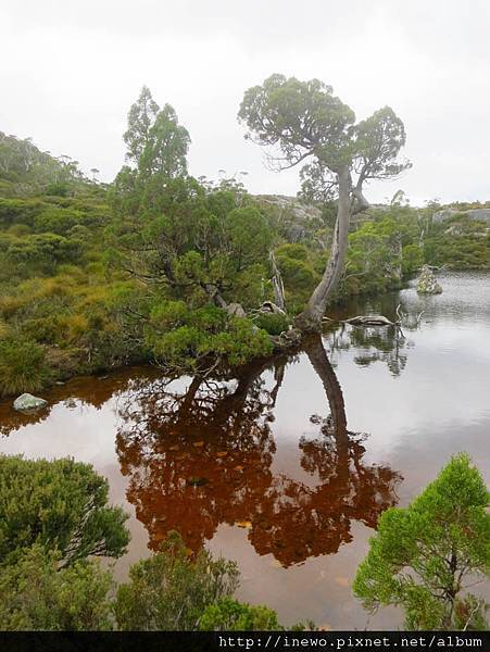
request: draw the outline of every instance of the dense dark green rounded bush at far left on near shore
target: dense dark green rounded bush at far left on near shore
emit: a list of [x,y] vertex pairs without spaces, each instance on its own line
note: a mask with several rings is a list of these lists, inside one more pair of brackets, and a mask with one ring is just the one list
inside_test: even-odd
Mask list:
[[108,506],[108,481],[89,464],[0,456],[0,560],[25,548],[56,548],[64,565],[88,555],[121,556],[129,541],[121,507]]

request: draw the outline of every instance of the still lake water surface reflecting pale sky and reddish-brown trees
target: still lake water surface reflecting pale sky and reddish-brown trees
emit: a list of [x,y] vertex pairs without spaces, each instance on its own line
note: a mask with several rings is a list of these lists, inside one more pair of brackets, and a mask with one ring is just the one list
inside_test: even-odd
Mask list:
[[0,452],[72,455],[108,477],[130,513],[121,579],[177,529],[236,560],[240,598],[285,624],[395,627],[394,609],[369,616],[350,588],[380,513],[460,451],[490,471],[490,276],[440,281],[438,297],[409,288],[330,313],[394,318],[401,303],[403,334],[332,323],[228,381],[136,368],[56,387],[35,416],[3,402]]

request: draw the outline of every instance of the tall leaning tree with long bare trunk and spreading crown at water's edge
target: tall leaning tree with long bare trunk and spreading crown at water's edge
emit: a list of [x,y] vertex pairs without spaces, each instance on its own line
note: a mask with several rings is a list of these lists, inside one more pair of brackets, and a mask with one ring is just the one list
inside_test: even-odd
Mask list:
[[268,150],[278,170],[305,163],[303,193],[315,200],[337,200],[329,260],[305,310],[297,317],[301,330],[317,330],[344,267],[352,215],[368,208],[364,187],[389,179],[410,167],[398,159],[405,143],[402,121],[385,106],[355,122],[355,114],[331,86],[311,79],[272,75],[246,91],[238,113],[250,138]]

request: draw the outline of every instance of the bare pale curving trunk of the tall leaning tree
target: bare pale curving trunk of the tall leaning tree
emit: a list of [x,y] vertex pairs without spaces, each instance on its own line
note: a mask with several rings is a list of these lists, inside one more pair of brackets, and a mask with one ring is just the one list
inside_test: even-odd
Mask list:
[[304,311],[294,319],[294,326],[302,331],[319,330],[328,300],[339,283],[347,255],[349,224],[351,220],[351,179],[349,170],[338,173],[339,200],[337,220],[331,240],[330,258],[322,280],[314,289]]

